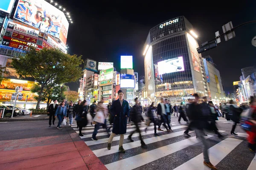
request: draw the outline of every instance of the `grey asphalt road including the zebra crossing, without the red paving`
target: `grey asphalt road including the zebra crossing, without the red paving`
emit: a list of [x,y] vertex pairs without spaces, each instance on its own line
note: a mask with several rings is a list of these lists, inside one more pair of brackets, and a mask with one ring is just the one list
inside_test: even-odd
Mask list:
[[[97,134],[98,141],[92,141],[91,135],[94,127],[87,125],[83,128],[84,136],[81,138],[87,144],[100,161],[109,169],[137,169],[137,170],[199,170],[209,169],[203,165],[202,143],[195,139],[195,133],[189,133],[192,137],[183,136],[186,130],[186,122],[177,123],[177,117],[172,116],[173,133],[157,131],[159,137],[154,136],[154,128],[148,128],[147,133],[144,132],[145,124],[141,123],[143,140],[148,145],[147,149],[140,147],[140,138],[138,133],[134,133],[133,140],[127,139],[134,126],[128,124],[128,132],[125,134],[123,147],[126,153],[119,153],[119,136],[117,135],[112,142],[111,150],[107,150],[108,135],[102,128]],[[29,121],[29,122],[0,122],[0,141],[26,139],[42,137],[42,136],[59,136],[60,140],[69,140],[67,138],[68,131],[76,131],[72,133],[77,140],[81,140],[76,129],[76,122],[72,127],[56,129],[55,126],[49,127],[48,121]],[[217,122],[218,129],[221,130],[223,139],[219,139],[214,134],[208,134],[209,157],[212,164],[216,165],[219,170],[255,170],[256,156],[247,148],[246,133],[237,125],[235,132],[239,136],[230,134],[232,122],[227,122],[221,118]],[[163,127],[161,127],[163,129]],[[2,142],[2,143],[3,143]],[[1,144],[0,144],[1,145]],[[3,146],[2,146],[3,147]],[[251,169],[250,169],[251,168]]]

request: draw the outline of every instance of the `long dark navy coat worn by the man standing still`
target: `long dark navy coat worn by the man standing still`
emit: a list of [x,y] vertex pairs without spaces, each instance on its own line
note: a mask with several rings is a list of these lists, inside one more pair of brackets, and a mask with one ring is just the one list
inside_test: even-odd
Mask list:
[[113,130],[115,134],[125,134],[127,128],[127,117],[130,115],[130,107],[126,100],[123,100],[122,107],[119,99],[113,101],[111,108],[111,114],[114,117]]

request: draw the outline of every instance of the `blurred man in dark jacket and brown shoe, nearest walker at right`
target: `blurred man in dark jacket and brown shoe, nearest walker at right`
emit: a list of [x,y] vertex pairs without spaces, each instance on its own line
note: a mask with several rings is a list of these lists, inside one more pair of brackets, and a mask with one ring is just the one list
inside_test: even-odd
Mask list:
[[208,155],[208,144],[206,139],[204,138],[204,127],[206,125],[206,120],[204,119],[201,105],[198,104],[199,96],[198,94],[194,94],[195,100],[192,104],[189,105],[189,114],[193,120],[192,127],[195,128],[195,134],[196,136],[201,139],[202,143],[204,144],[204,165],[213,169],[217,170],[215,166],[212,165],[212,163],[209,160]]

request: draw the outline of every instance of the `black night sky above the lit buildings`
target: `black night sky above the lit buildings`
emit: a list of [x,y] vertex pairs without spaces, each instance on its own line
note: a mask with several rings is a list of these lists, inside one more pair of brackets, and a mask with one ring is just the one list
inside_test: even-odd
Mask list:
[[[201,44],[223,33],[222,26],[232,21],[233,26],[256,20],[256,1],[237,4],[226,1],[78,1],[61,0],[59,4],[70,12],[74,23],[70,24],[67,37],[69,53],[82,55],[98,62],[114,62],[120,71],[120,56],[134,56],[134,72],[144,75],[143,45],[148,32],[158,24],[184,15],[194,26]],[[152,3],[151,3],[152,2]],[[179,2],[179,1],[177,1]],[[207,5],[209,2],[210,5]],[[247,2],[247,3],[245,3]],[[221,6],[221,7],[220,7]],[[224,89],[233,93],[233,81],[239,81],[241,68],[253,66],[256,47],[251,40],[256,36],[256,23],[235,31],[236,37],[225,42],[224,37],[217,48],[204,52],[210,55],[221,73]],[[77,91],[79,83],[68,83]]]

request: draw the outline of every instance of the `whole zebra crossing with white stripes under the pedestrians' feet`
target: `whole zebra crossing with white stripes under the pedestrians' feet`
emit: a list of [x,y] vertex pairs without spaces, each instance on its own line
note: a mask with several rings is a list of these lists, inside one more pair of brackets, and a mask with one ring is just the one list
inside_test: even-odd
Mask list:
[[[108,133],[102,127],[100,127],[96,135],[98,138],[97,141],[91,140],[94,127],[92,127],[90,123],[86,127],[82,128],[84,136],[80,137],[84,140],[85,144],[90,147],[99,160],[105,164],[108,170],[132,170],[135,168],[143,170],[146,169],[147,166],[153,166],[149,169],[157,169],[161,164],[166,164],[164,169],[167,168],[170,170],[209,170],[209,168],[203,164],[203,144],[201,140],[196,139],[194,131],[189,131],[189,134],[192,137],[187,137],[186,139],[186,137],[183,136],[183,133],[186,127],[188,127],[188,124],[186,124],[186,122],[181,122],[181,124],[176,123],[177,125],[175,125],[175,122],[177,122],[177,119],[173,119],[173,122],[171,123],[172,130],[175,130],[175,132],[167,133],[166,129],[161,126],[161,129],[164,131],[157,130],[157,133],[160,136],[154,136],[153,123],[151,123],[151,126],[147,127],[147,131],[145,132],[144,129],[146,125],[144,122],[141,122],[139,124],[141,133],[135,132],[132,136],[134,142],[130,142],[128,140],[128,136],[132,131],[136,130],[135,125],[133,122],[128,122],[127,133],[124,135],[125,140],[123,144],[127,153],[119,152],[119,135],[116,135],[113,138],[111,150],[107,149],[109,139]],[[232,125],[234,123],[233,121],[227,122],[226,119],[220,119],[216,122],[218,125],[221,125],[222,123]],[[111,127],[108,121],[107,126]],[[76,131],[76,133],[79,133],[79,129],[76,128],[76,121],[73,121],[71,127]],[[218,128],[221,129],[221,127]],[[239,148],[244,148],[245,146],[246,148],[244,148],[243,152],[248,151],[248,154],[250,154],[250,151],[247,150],[247,145],[243,142],[246,141],[246,137],[248,136],[247,133],[237,132],[238,136],[230,136],[229,129],[227,131],[221,129],[219,132],[224,135],[221,139],[211,131],[206,131],[208,136],[205,136],[205,138],[209,144],[211,144],[211,147],[208,149],[211,163],[215,166],[217,165],[218,168],[222,167],[222,169],[219,168],[219,170],[223,170],[223,167],[226,166],[226,161],[225,165],[223,165],[224,161],[222,160],[224,158],[232,159],[233,153],[236,152],[235,148],[238,148],[238,146]],[[148,146],[148,149],[143,149],[141,147],[141,141],[139,139],[140,134],[143,141]],[[189,152],[193,153],[194,156],[192,156],[193,154],[189,154]],[[181,158],[183,157],[183,154],[185,154],[185,159]],[[172,155],[174,157],[172,157]],[[172,166],[168,168],[167,162],[161,162],[162,159],[165,160],[168,158],[180,159],[179,162],[181,162],[177,165],[172,164]],[[250,159],[250,162],[247,161],[247,170],[255,170],[256,157],[252,159],[252,156],[250,156]],[[233,167],[233,169],[234,168],[235,167]],[[239,170],[242,170],[242,168]]]

